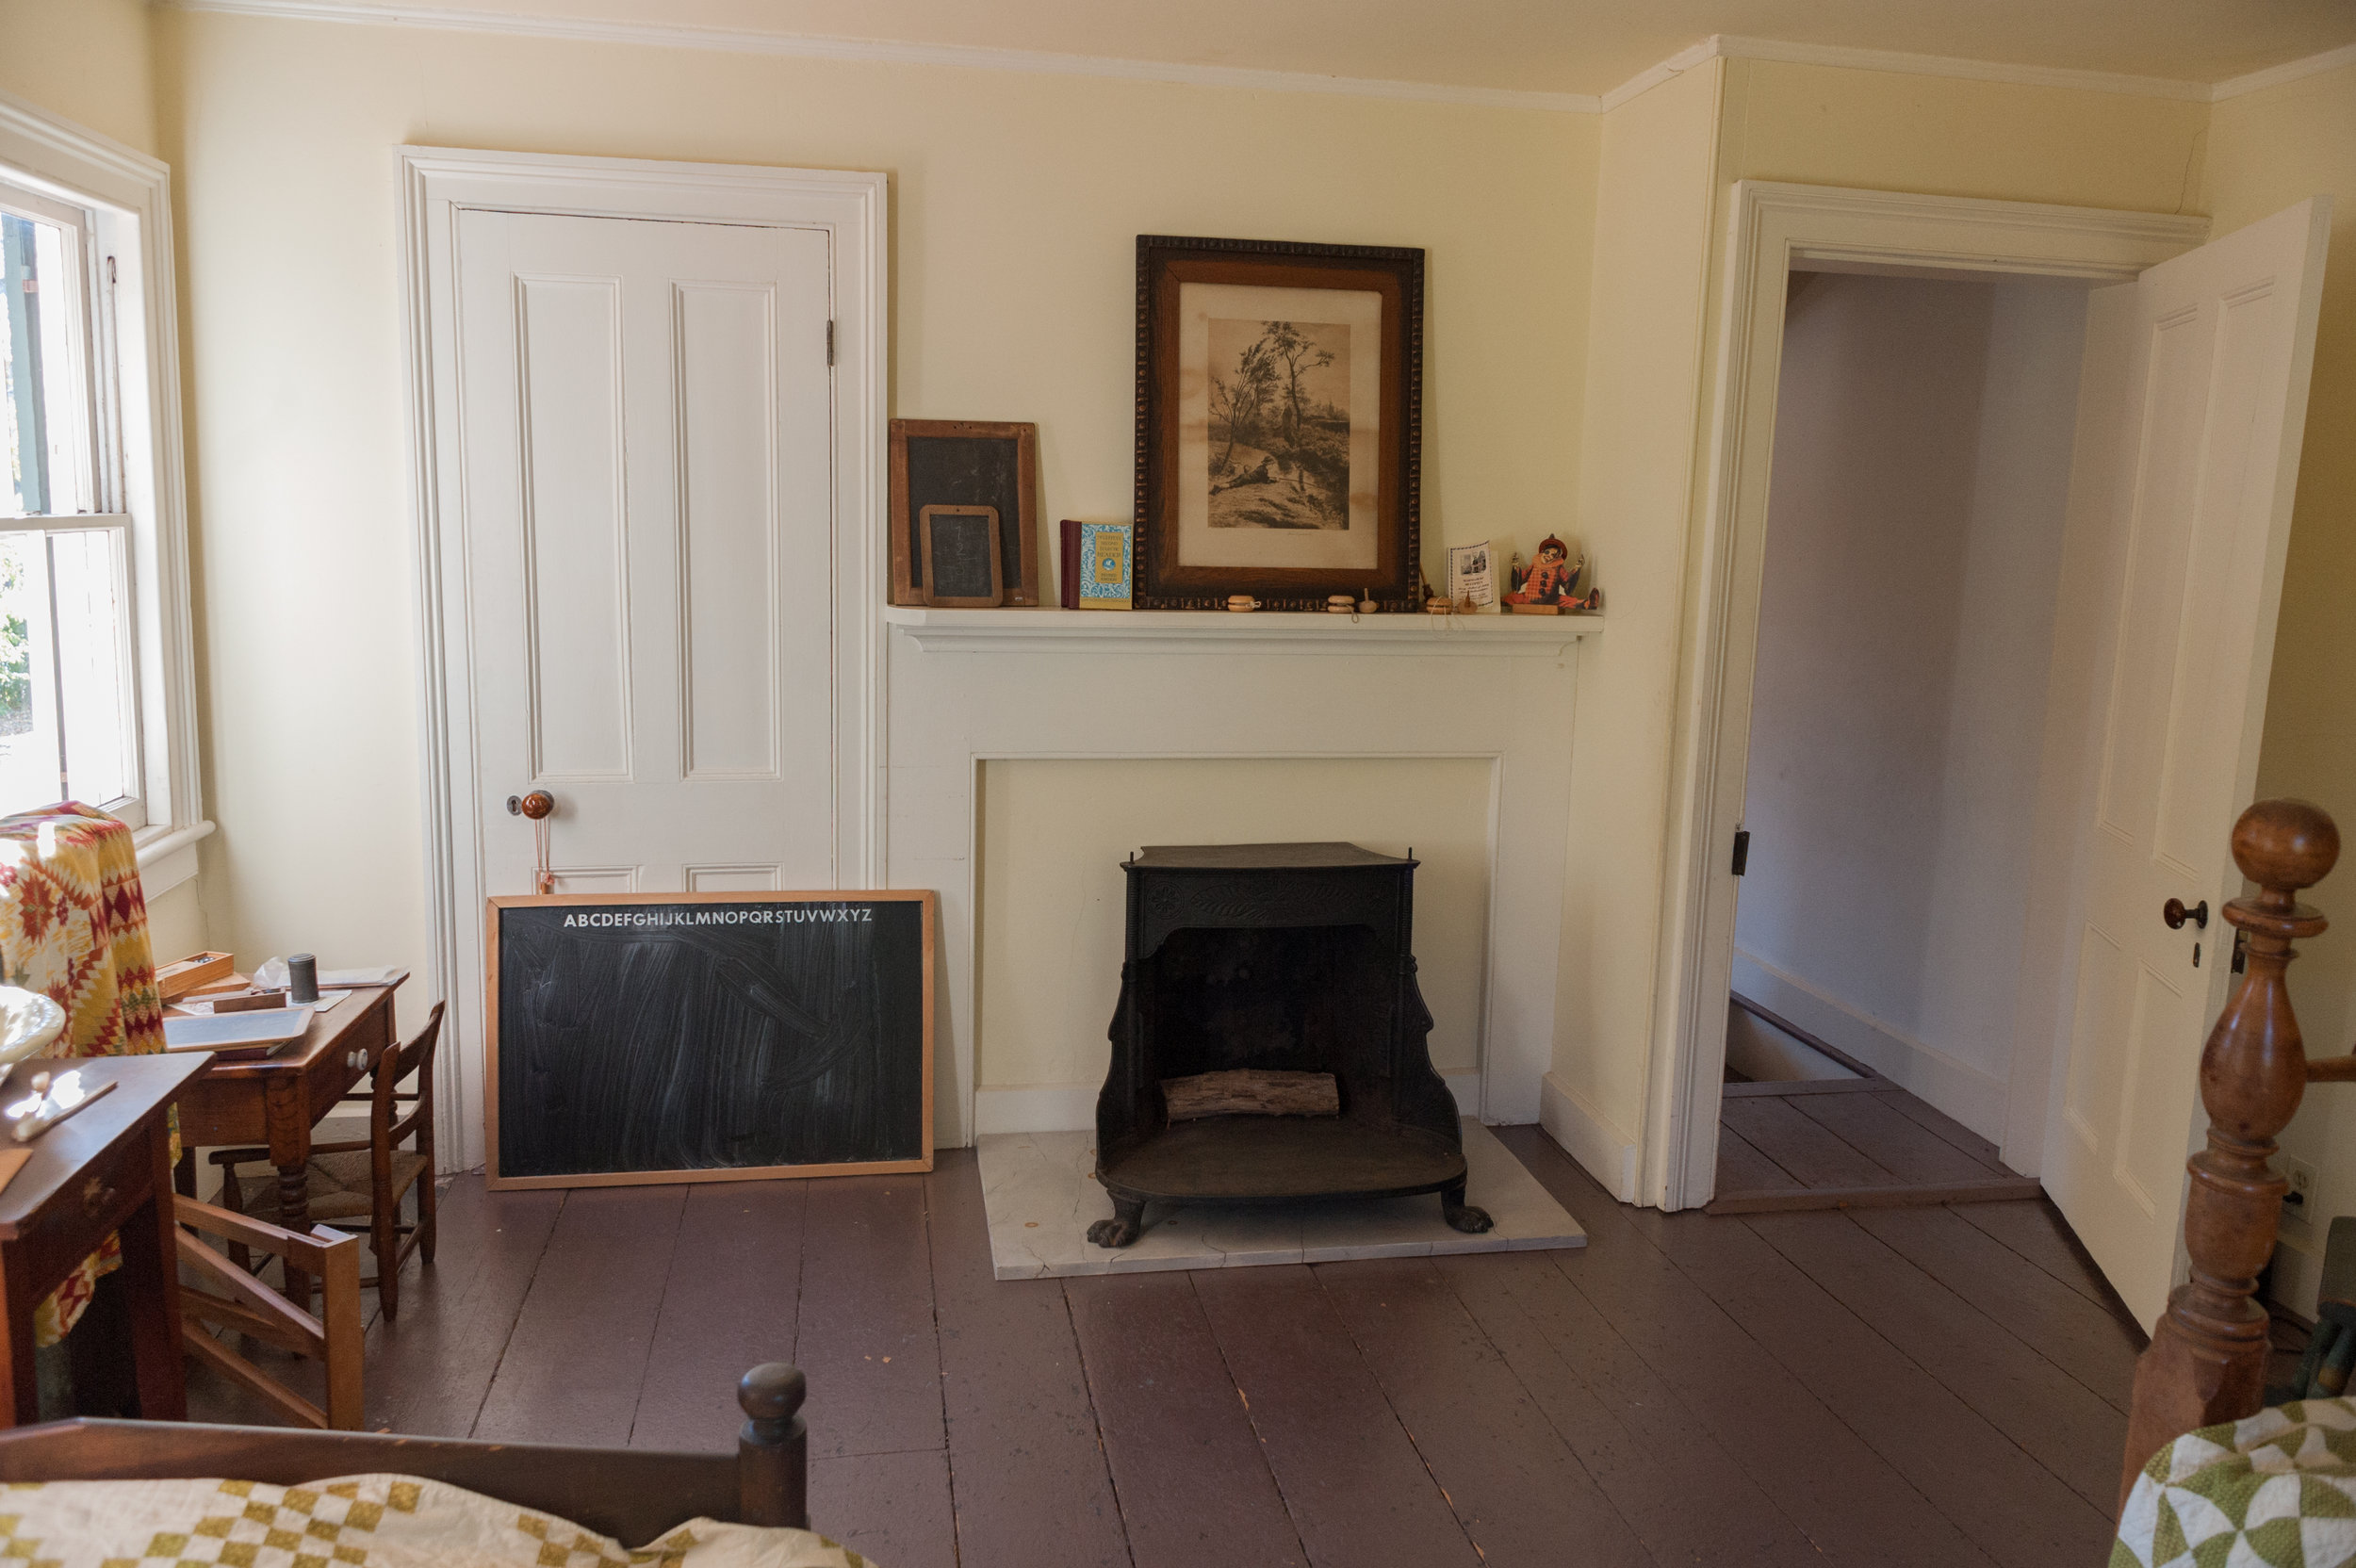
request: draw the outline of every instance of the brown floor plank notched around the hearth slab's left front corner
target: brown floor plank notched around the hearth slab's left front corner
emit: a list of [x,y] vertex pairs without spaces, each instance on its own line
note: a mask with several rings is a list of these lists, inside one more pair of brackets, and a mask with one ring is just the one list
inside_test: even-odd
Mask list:
[[[942,1149],[928,1191],[959,1561],[1126,1566],[1129,1544],[1063,1283],[992,1278],[971,1149]],[[818,1406],[815,1382],[810,1406]]]

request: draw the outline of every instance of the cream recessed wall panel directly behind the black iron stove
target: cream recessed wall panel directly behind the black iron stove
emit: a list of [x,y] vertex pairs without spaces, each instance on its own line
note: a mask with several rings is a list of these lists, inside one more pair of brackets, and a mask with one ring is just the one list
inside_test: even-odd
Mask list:
[[1432,1067],[1480,1071],[1491,772],[1489,758],[985,763],[975,1083],[1103,1083],[1131,850],[1333,838],[1423,862]]

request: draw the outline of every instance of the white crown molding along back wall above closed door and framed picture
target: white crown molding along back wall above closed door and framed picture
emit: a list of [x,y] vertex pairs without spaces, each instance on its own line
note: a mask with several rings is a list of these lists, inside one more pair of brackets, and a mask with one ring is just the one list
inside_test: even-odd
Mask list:
[[968,71],[1025,71],[1034,75],[1096,75],[1133,82],[1180,82],[1192,87],[1249,87],[1256,92],[1326,92],[1402,104],[1458,104],[1468,108],[1534,108],[1546,113],[1597,113],[1586,92],[1517,92],[1510,87],[1463,87],[1454,82],[1392,82],[1312,71],[1251,71],[1244,66],[1194,66],[1159,59],[1110,59],[1098,54],[1051,54],[1044,49],[994,49],[985,45],[924,45],[884,38],[825,38],[815,33],[756,33],[749,28],[674,26],[660,21],[580,21],[525,16],[490,7],[356,5],[351,0],[155,0],[181,12],[229,16],[297,16],[304,21],[358,21],[372,26],[448,28],[459,33],[518,33],[575,42],[622,42],[662,49],[721,49],[730,54],[785,54],[886,66],[964,66]]

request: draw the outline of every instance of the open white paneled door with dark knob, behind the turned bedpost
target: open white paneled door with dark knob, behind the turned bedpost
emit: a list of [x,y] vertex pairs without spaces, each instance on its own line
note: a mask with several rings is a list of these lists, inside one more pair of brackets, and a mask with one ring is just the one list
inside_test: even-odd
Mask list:
[[[2142,1323],[2175,1271],[2201,1043],[2229,982],[2226,833],[2257,779],[2328,221],[2325,198],[2302,202],[2092,301],[2080,440],[2111,445],[2080,461],[2097,494],[2073,513],[2111,534],[2118,600],[2043,1177]],[[2208,925],[2168,925],[2168,899],[2205,902]]]

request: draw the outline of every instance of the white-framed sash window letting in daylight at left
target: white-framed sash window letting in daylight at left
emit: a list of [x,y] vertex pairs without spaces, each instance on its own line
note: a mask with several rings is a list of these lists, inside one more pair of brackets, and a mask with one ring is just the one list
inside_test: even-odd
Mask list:
[[210,829],[172,334],[170,170],[0,94],[0,812],[113,812],[151,895]]

